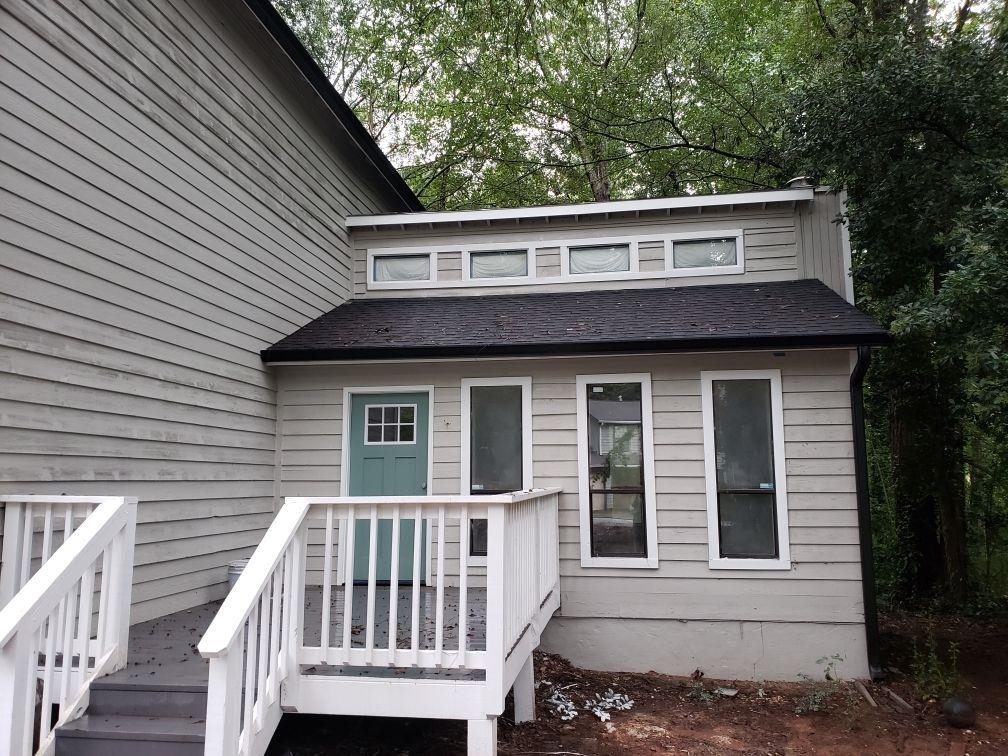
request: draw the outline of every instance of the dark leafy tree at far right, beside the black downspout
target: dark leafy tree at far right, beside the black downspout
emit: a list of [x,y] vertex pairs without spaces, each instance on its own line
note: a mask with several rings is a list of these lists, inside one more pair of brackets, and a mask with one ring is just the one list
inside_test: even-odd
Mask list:
[[847,187],[860,303],[895,336],[871,380],[903,592],[962,599],[967,435],[1003,427],[1008,395],[1008,40],[968,17],[894,18],[912,23],[853,35],[845,65],[796,97],[792,154]]

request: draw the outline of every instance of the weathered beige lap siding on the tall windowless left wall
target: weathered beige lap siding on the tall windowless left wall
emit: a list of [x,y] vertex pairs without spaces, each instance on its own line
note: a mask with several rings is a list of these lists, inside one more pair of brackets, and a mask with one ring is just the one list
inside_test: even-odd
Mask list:
[[0,9],[0,491],[140,499],[133,619],[226,590],[273,512],[258,352],[397,209],[237,0]]

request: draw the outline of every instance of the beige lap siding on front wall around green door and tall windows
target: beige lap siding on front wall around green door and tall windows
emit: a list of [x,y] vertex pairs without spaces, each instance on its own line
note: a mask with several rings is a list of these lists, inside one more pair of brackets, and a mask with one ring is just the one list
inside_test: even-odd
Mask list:
[[[391,369],[390,369],[391,368]],[[700,398],[701,370],[782,373],[791,556],[788,572],[712,571]],[[460,492],[462,378],[532,377],[534,484],[559,486],[561,612],[770,622],[863,621],[846,350],[281,367],[280,491],[339,492],[343,386],[391,375],[434,386],[434,494]],[[583,569],[580,559],[575,380],[649,372],[657,492],[657,570]],[[449,533],[449,570],[458,545]],[[313,552],[318,556],[318,550]],[[317,568],[318,569],[318,568]]]

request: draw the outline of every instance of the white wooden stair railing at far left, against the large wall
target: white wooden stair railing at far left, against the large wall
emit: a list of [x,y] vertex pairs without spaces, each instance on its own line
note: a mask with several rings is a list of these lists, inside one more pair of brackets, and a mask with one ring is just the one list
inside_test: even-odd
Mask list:
[[51,753],[55,728],[87,708],[91,681],[126,664],[136,499],[0,501],[3,583],[16,591],[0,610],[0,756]]

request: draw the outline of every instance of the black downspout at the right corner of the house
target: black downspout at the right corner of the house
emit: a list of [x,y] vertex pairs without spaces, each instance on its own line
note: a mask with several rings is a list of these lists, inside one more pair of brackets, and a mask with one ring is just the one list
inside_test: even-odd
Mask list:
[[873,680],[885,677],[879,650],[879,614],[875,596],[875,562],[872,554],[872,510],[868,499],[868,448],[865,444],[865,374],[872,362],[871,347],[858,347],[858,362],[851,372],[851,419],[854,426],[854,477],[858,497],[858,540],[861,543],[861,590],[865,611],[868,671]]

